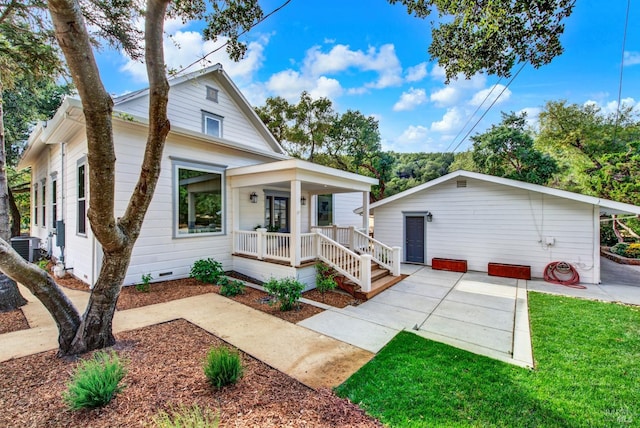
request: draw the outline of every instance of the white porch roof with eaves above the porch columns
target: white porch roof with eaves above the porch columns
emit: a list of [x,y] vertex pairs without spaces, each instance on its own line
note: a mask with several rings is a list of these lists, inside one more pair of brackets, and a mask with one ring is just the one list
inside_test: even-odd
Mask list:
[[359,174],[316,165],[300,159],[288,159],[227,170],[232,188],[271,185],[288,188],[300,181],[302,190],[314,194],[368,192],[378,180]]

